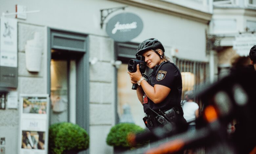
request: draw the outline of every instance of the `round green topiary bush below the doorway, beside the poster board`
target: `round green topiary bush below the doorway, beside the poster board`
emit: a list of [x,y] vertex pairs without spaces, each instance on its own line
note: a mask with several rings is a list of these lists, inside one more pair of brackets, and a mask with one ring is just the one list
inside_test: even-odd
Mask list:
[[62,122],[49,128],[49,150],[52,154],[79,152],[89,147],[89,135],[79,125]]

